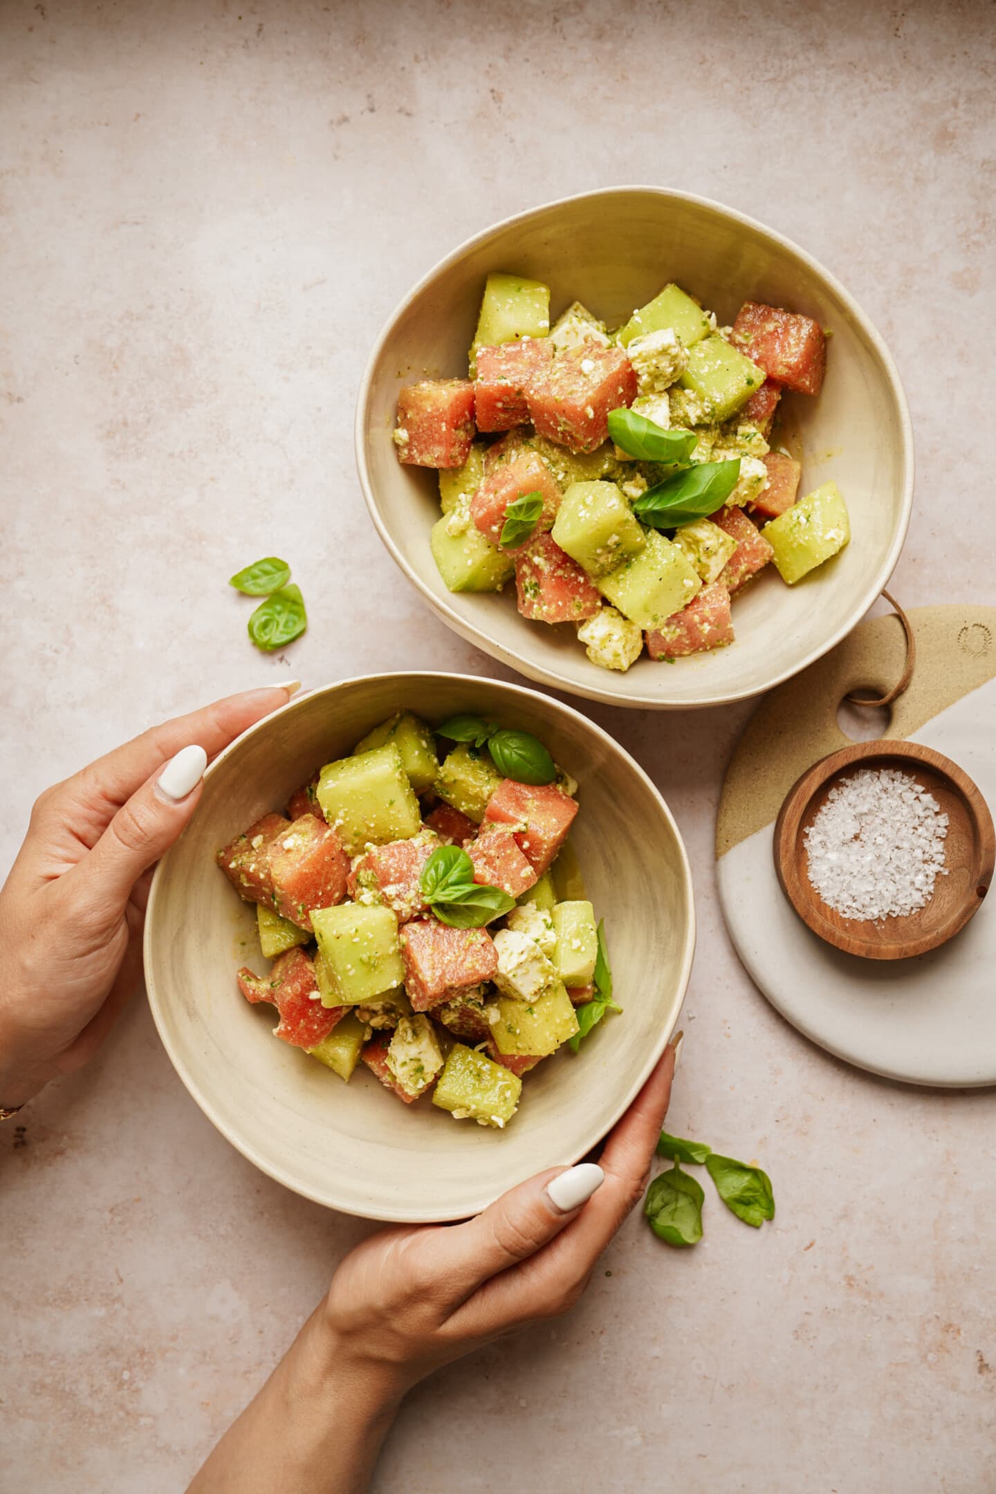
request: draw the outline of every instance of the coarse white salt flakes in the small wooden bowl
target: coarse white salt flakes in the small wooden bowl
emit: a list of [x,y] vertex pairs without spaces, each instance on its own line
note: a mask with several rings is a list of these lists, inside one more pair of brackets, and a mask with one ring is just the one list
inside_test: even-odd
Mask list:
[[845,919],[900,919],[933,896],[948,817],[896,768],[862,768],[830,789],[805,832],[809,881]]

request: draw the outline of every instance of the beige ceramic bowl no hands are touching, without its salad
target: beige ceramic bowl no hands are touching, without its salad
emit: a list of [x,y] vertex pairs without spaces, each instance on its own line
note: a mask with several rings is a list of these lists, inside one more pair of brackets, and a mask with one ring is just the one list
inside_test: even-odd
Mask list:
[[[673,279],[721,323],[756,299],[830,327],[823,393],[815,400],[791,394],[785,405],[803,445],[802,492],[835,478],[847,499],[847,550],[791,589],[774,571],[759,577],[733,608],[730,648],[675,665],[642,657],[627,674],[590,663],[572,627],[521,619],[514,589],[500,596],[446,592],[429,550],[439,514],[436,474],[402,466],[391,430],[402,384],[466,376],[488,270],[545,281],[554,317],[576,297],[612,326]],[[721,705],[805,669],[854,627],[888,581],[912,503],[906,399],[860,306],[781,235],[718,203],[653,187],[617,187],[536,208],[442,260],[378,339],[360,387],[355,445],[373,523],[433,611],[530,680],[614,705]]]

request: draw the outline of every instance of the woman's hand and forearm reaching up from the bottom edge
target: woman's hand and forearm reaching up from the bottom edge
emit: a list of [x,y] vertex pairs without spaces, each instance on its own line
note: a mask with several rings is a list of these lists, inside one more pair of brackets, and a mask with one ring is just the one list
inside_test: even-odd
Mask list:
[[412,1385],[576,1303],[642,1198],[673,1070],[672,1044],[600,1165],[541,1173],[466,1224],[384,1230],[351,1250],[190,1494],[361,1494]]

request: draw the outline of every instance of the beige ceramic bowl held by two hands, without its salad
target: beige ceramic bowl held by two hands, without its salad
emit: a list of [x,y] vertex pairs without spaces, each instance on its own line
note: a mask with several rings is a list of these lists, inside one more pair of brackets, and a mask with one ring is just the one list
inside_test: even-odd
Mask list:
[[[272,1035],[273,1010],[237,992],[240,964],[266,968],[255,910],[214,853],[279,808],[318,763],[351,751],[408,707],[441,722],[473,711],[541,737],[579,784],[572,832],[605,917],[626,1008],[578,1058],[524,1083],[508,1131],[403,1109],[364,1068],[343,1085]],[[518,686],[448,674],[372,675],[317,690],[266,717],[208,771],[193,823],[155,872],[145,934],[152,1016],[205,1115],[249,1161],[317,1203],[370,1219],[458,1219],[542,1167],[575,1162],[605,1135],[670,1035],[694,949],[691,878],[675,822],[647,774],[600,728]]]

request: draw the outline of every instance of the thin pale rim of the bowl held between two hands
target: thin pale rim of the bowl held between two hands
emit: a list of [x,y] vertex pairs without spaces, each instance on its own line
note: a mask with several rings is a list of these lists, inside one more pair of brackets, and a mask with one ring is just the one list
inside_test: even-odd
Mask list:
[[[414,681],[414,680],[445,680],[448,683],[454,683],[455,681],[458,684],[466,684],[469,689],[479,687],[484,683],[487,686],[494,686],[494,687],[497,687],[502,692],[509,692],[512,696],[529,696],[530,699],[539,699],[545,705],[551,705],[555,711],[563,711],[569,719],[579,720],[585,728],[588,728],[591,732],[594,732],[596,737],[600,737],[603,740],[603,743],[608,746],[608,750],[611,753],[614,753],[615,756],[621,756],[623,759],[626,759],[629,768],[633,772],[636,772],[636,775],[639,778],[644,780],[645,787],[656,798],[656,801],[659,804],[659,808],[663,813],[664,820],[670,826],[670,831],[672,831],[673,838],[675,838],[675,844],[678,847],[678,868],[676,870],[679,870],[681,887],[684,890],[684,896],[685,896],[685,902],[687,902],[687,910],[688,910],[688,914],[687,914],[687,919],[685,919],[685,925],[684,925],[684,931],[682,931],[682,935],[681,935],[681,947],[679,947],[679,952],[678,952],[678,958],[679,958],[678,980],[676,980],[678,1005],[675,1008],[675,1016],[673,1016],[673,1020],[670,1022],[670,1025],[663,1023],[662,1028],[660,1028],[660,1031],[659,1031],[659,1034],[657,1034],[657,1037],[648,1044],[647,1055],[644,1058],[644,1062],[642,1062],[641,1068],[633,1070],[627,1076],[627,1083],[620,1088],[620,1098],[618,1098],[617,1104],[612,1106],[612,1109],[611,1109],[611,1119],[609,1119],[605,1131],[602,1132],[602,1135],[606,1135],[608,1131],[617,1123],[617,1120],[623,1116],[623,1113],[633,1103],[633,1100],[636,1098],[636,1095],[642,1089],[644,1083],[650,1079],[650,1074],[654,1070],[656,1064],[659,1062],[660,1056],[663,1055],[664,1047],[667,1046],[667,1041],[670,1038],[670,1034],[672,1034],[673,1028],[678,1023],[678,1017],[681,1016],[681,1010],[682,1010],[682,1005],[684,1005],[684,1001],[685,1001],[685,995],[687,995],[687,991],[688,991],[688,980],[691,977],[691,965],[693,965],[693,961],[694,961],[694,949],[696,949],[696,905],[694,905],[694,886],[693,886],[693,880],[691,880],[691,865],[688,862],[688,852],[687,852],[684,838],[681,835],[681,831],[678,828],[678,823],[676,823],[676,820],[675,820],[675,817],[673,817],[673,814],[672,814],[672,811],[670,811],[670,808],[667,805],[667,801],[664,799],[663,793],[660,792],[660,789],[657,787],[657,784],[653,781],[653,778],[650,777],[650,774],[645,771],[645,768],[642,768],[641,763],[633,757],[633,754],[629,753],[626,750],[626,747],[623,747],[620,743],[617,743],[615,738],[609,732],[606,732],[603,726],[599,726],[597,722],[590,720],[576,707],[567,705],[564,701],[555,699],[555,696],[550,696],[550,695],[547,695],[542,690],[533,690],[533,689],[530,689],[529,686],[524,686],[524,684],[511,684],[506,680],[491,680],[491,678],[487,678],[487,677],[484,677],[484,680],[482,680],[481,675],[455,674],[455,672],[446,671],[446,669],[381,671],[378,674],[349,675],[345,680],[334,680],[330,684],[317,686],[317,687],[314,687],[311,690],[303,690],[300,695],[294,696],[294,699],[288,701],[287,705],[279,707],[276,711],[270,711],[269,716],[264,716],[261,720],[258,720],[252,726],[246,728],[246,731],[240,732],[240,735],[236,737],[236,740],[233,743],[230,743],[222,751],[218,753],[217,757],[214,757],[211,760],[208,769],[205,771],[205,780],[208,780],[209,777],[212,777],[218,771],[218,768],[221,766],[221,763],[237,747],[240,747],[242,743],[248,737],[254,737],[257,732],[266,731],[266,728],[272,722],[275,722],[279,716],[285,716],[287,713],[297,710],[303,702],[311,701],[315,696],[324,696],[324,695],[332,696],[332,695],[334,695],[336,690],[340,690],[345,686],[364,686],[364,684],[381,683],[384,680],[393,680],[393,681],[399,681],[399,683]],[[194,814],[196,813],[197,811],[194,811]],[[181,840],[182,840],[182,837],[181,837]],[[179,841],[176,844],[179,844]],[[449,1212],[449,1213],[443,1212],[442,1215],[439,1215],[439,1213],[427,1215],[427,1213],[424,1213],[424,1210],[420,1210],[418,1207],[414,1207],[414,1209],[411,1209],[411,1207],[409,1209],[399,1207],[399,1209],[396,1209],[396,1210],[393,1210],[390,1213],[384,1212],[384,1210],[375,1210],[375,1209],[364,1210],[364,1212],[360,1212],[357,1209],[348,1209],[348,1207],[343,1207],[340,1203],[336,1203],[329,1195],[329,1192],[326,1192],[323,1195],[318,1191],[299,1186],[279,1165],[272,1165],[269,1161],[266,1161],[257,1152],[257,1149],[251,1143],[243,1141],[240,1137],[237,1137],[237,1135],[233,1134],[233,1131],[228,1128],[228,1125],[222,1120],[222,1118],[218,1113],[218,1109],[215,1107],[215,1104],[211,1100],[211,1097],[203,1092],[203,1089],[200,1088],[200,1085],[197,1083],[197,1080],[191,1074],[190,1068],[184,1062],[181,1053],[178,1053],[175,1044],[172,1043],[169,1031],[167,1031],[167,1025],[166,1025],[166,1016],[164,1016],[164,996],[163,996],[163,992],[157,989],[155,979],[154,979],[154,976],[151,973],[151,964],[152,964],[152,961],[151,961],[151,952],[152,952],[154,929],[157,928],[155,914],[157,914],[157,904],[158,904],[158,892],[160,892],[161,881],[164,878],[164,868],[169,865],[170,856],[173,855],[173,849],[175,847],[170,847],[166,852],[166,855],[161,858],[161,861],[158,862],[158,865],[155,868],[155,872],[152,875],[151,887],[149,887],[149,898],[148,898],[148,904],[146,904],[146,910],[145,910],[145,929],[143,929],[143,935],[142,935],[142,967],[143,967],[143,976],[145,976],[145,989],[146,989],[146,995],[148,995],[149,1010],[152,1013],[152,1022],[155,1023],[155,1029],[157,1029],[157,1032],[160,1035],[160,1041],[163,1043],[163,1047],[166,1049],[166,1055],[167,1055],[170,1064],[173,1065],[176,1074],[179,1076],[181,1083],[187,1089],[188,1095],[194,1100],[194,1103],[199,1106],[199,1109],[202,1110],[202,1113],[211,1120],[211,1123],[215,1126],[215,1129],[237,1152],[240,1152],[240,1155],[245,1156],[246,1161],[252,1162],[254,1167],[258,1167],[258,1170],[261,1173],[264,1173],[267,1177],[272,1177],[273,1182],[281,1183],[284,1188],[288,1188],[291,1192],[299,1194],[302,1198],[308,1198],[312,1203],[321,1204],[326,1209],[334,1209],[339,1213],[352,1215],[354,1218],[376,1219],[376,1221],[384,1222],[384,1224],[442,1224],[442,1222],[448,1222],[451,1219],[464,1219],[464,1218],[469,1218],[470,1215],[479,1213],[482,1209],[485,1209],[493,1201],[493,1197],[487,1191],[482,1192],[482,1194],[479,1194],[478,1197],[469,1200],[469,1204],[467,1204],[466,1209],[458,1210],[458,1212]],[[602,1140],[602,1135],[590,1137],[587,1140],[587,1144],[584,1146],[584,1149],[579,1150],[576,1156],[570,1156],[567,1165],[572,1165],[573,1162],[576,1162],[582,1156],[585,1156],[591,1150],[591,1147],[596,1146]]]

